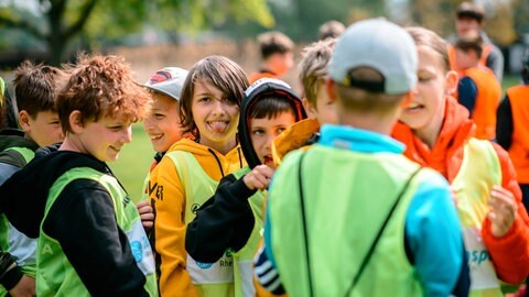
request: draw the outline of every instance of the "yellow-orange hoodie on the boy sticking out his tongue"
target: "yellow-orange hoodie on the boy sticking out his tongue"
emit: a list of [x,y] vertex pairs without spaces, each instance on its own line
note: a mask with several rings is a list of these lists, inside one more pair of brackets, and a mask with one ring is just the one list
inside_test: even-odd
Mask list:
[[[223,155],[193,140],[182,139],[169,148],[151,173],[149,186],[153,190],[150,199],[155,201],[155,246],[161,258],[160,294],[161,296],[199,296],[186,271],[187,253],[184,245],[186,219],[190,219],[185,218],[186,208],[198,206],[186,204],[184,185],[180,180],[174,162],[168,156],[174,151],[192,153],[202,169],[213,180],[220,180],[223,175],[242,168],[246,166],[246,161],[240,146]],[[199,184],[201,180],[196,180],[196,185]]]

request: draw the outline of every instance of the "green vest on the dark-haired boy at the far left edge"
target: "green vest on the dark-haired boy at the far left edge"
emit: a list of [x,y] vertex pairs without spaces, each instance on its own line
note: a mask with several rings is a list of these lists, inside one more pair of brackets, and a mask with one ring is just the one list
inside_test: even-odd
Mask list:
[[[6,151],[13,151],[19,154],[19,157],[17,157],[18,160],[13,160],[13,163],[18,163],[21,167],[25,166],[25,164],[35,156],[33,150],[22,146],[8,147],[4,152]],[[17,230],[11,223],[9,223],[6,215],[0,215],[0,248],[2,251],[7,251],[17,257],[17,265],[19,265],[22,273],[33,278],[35,277],[36,239],[30,239]],[[0,285],[0,296],[6,295],[8,295],[8,290]]]

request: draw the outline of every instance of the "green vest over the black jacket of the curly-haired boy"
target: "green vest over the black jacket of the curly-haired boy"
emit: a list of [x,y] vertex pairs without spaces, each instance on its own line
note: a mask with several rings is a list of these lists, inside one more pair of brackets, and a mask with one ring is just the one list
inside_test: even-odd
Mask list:
[[[144,288],[150,296],[158,296],[151,245],[134,204],[130,201],[115,177],[89,167],[77,167],[67,170],[50,188],[43,221],[45,221],[50,209],[64,187],[79,178],[96,180],[110,194],[115,207],[116,221],[119,228],[127,234],[138,267],[145,275]],[[90,296],[77,272],[64,254],[61,244],[48,237],[42,229],[42,226],[39,237],[36,265],[37,296]]]

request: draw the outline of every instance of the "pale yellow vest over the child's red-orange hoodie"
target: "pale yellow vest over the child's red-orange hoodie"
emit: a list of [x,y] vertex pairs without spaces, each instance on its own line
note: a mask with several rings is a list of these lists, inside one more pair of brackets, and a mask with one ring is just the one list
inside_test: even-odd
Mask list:
[[463,228],[471,267],[471,296],[503,296],[494,265],[482,240],[482,224],[494,185],[501,185],[501,165],[489,141],[471,139],[464,146],[463,163],[452,188]]

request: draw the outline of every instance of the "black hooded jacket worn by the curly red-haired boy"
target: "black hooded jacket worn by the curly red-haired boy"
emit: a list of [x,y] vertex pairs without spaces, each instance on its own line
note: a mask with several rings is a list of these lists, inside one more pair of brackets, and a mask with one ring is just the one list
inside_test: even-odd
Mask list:
[[61,191],[45,220],[48,190],[74,167],[112,175],[95,157],[56,147],[39,150],[35,158],[0,187],[0,210],[30,238],[43,231],[57,240],[64,254],[94,296],[148,296],[145,276],[118,227],[110,194],[97,182],[76,179]]

